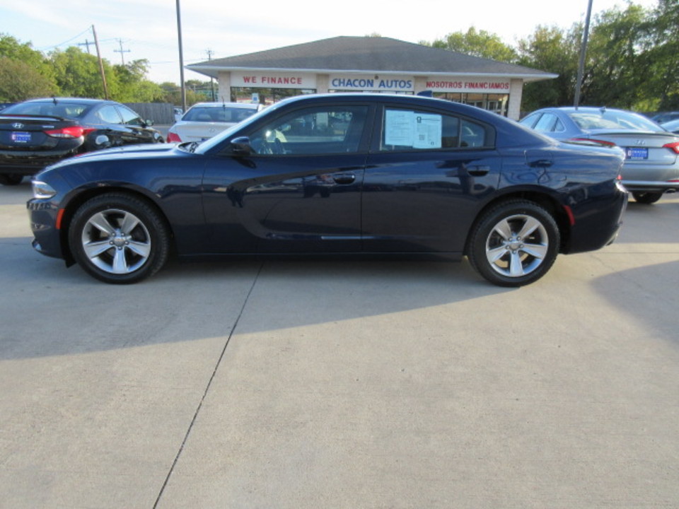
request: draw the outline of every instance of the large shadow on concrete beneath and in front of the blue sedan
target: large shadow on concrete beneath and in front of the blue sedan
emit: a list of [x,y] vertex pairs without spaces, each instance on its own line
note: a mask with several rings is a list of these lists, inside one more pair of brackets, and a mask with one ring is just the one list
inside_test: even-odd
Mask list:
[[244,312],[262,316],[248,320],[255,329],[275,330],[515,291],[483,281],[467,262],[173,261],[142,283],[108,285],[34,252],[28,238],[0,239],[0,257],[0,359],[226,339]]

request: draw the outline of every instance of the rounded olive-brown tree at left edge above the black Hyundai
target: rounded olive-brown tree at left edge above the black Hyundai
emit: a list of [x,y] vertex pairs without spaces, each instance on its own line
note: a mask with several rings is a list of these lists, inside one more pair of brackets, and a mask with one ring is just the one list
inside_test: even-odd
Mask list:
[[42,76],[30,64],[0,57],[0,103],[19,103],[55,93],[54,81]]

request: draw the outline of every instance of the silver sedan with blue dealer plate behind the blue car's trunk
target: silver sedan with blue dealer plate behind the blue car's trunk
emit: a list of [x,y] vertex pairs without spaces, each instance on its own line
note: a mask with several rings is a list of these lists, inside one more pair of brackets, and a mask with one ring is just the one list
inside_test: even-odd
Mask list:
[[535,111],[521,124],[561,141],[622,148],[622,184],[640,203],[655,203],[663,193],[679,189],[679,136],[642,115],[605,107],[555,107]]

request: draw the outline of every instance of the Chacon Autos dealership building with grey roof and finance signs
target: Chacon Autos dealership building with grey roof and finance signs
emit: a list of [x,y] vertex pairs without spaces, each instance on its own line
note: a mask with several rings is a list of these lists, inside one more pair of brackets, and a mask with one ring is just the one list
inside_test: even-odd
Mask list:
[[523,83],[557,77],[388,37],[332,37],[187,69],[216,78],[219,100],[270,104],[305,93],[422,94],[511,119],[521,115]]

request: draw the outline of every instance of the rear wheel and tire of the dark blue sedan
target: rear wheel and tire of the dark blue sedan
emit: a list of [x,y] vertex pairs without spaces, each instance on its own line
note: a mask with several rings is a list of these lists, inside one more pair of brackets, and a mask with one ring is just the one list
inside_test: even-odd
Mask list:
[[561,235],[552,215],[533,201],[505,201],[484,212],[472,229],[467,257],[497,286],[524,286],[547,274]]

